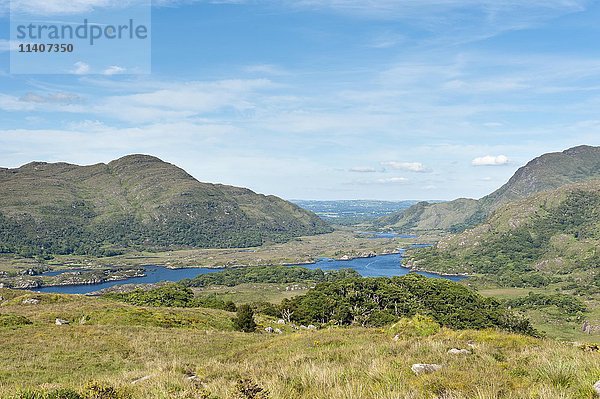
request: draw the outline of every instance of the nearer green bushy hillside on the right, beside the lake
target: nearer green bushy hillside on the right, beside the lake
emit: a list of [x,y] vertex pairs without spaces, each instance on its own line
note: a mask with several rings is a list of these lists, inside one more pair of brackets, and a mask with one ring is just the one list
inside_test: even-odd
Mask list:
[[408,264],[507,286],[562,281],[600,293],[599,248],[600,180],[590,180],[500,206],[484,224],[411,253]]

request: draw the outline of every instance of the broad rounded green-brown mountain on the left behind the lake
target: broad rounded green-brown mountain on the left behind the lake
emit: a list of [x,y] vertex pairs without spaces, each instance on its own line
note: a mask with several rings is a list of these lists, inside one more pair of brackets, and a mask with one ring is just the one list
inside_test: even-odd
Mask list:
[[328,231],[316,215],[280,198],[201,183],[147,155],[0,169],[0,252],[247,247]]

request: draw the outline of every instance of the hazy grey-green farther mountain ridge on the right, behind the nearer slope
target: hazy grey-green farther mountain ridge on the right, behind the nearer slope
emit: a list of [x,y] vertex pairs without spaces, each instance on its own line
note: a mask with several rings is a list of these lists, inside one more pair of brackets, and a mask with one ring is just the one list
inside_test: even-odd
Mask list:
[[600,147],[579,146],[542,155],[520,168],[510,180],[480,200],[458,199],[440,204],[419,203],[378,220],[396,230],[458,232],[483,222],[499,206],[565,184],[600,178]]

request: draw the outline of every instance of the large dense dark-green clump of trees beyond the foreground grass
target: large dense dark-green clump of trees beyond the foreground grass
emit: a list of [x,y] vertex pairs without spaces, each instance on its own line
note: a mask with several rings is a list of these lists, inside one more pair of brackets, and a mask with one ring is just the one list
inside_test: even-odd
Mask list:
[[[456,329],[503,328],[508,310],[492,298],[444,279],[418,274],[392,278],[351,278],[322,283],[305,295],[284,299],[280,309],[302,324],[334,323],[377,327],[422,314]],[[523,333],[531,331],[525,325]]]

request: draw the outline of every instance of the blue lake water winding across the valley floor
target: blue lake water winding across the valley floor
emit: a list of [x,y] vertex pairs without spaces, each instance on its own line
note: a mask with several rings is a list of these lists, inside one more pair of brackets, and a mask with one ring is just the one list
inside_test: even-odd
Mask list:
[[[420,246],[420,245],[419,245]],[[425,246],[423,244],[423,246]],[[333,260],[321,259],[318,262],[310,265],[300,265],[307,269],[321,269],[323,271],[339,270],[339,269],[354,269],[364,277],[392,277],[403,276],[410,272],[401,266],[402,253],[392,255],[380,255],[372,258],[358,258],[352,260]],[[120,284],[151,284],[161,281],[180,281],[186,278],[194,278],[201,274],[215,273],[222,269],[207,269],[207,268],[185,268],[185,269],[167,269],[162,266],[145,266],[146,276],[133,277],[127,280],[109,281],[101,284],[90,285],[63,285],[56,287],[43,287],[37,289],[41,292],[56,292],[62,294],[87,294],[98,291],[104,288],[113,287]],[[65,272],[65,271],[63,271]],[[60,272],[49,272],[53,275]],[[464,277],[461,276],[441,276],[439,274],[418,272],[426,277],[445,278],[448,280],[459,281]]]

